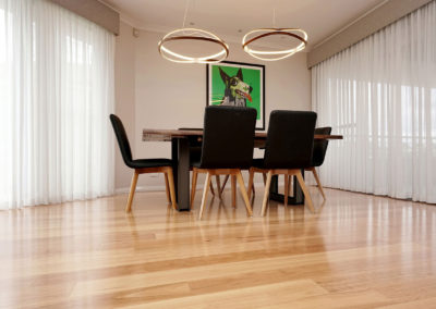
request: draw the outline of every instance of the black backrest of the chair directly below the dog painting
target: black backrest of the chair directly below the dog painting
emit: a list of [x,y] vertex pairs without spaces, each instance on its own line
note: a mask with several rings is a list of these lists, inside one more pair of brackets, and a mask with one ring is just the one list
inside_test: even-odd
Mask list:
[[202,169],[249,169],[253,161],[256,110],[207,107],[204,118]]

